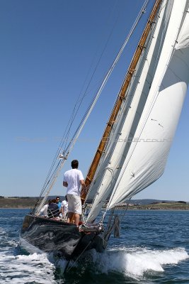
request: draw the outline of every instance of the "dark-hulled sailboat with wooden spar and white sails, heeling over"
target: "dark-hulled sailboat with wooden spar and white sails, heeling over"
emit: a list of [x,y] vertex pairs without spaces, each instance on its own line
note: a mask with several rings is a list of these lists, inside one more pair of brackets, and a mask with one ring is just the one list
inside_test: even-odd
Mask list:
[[39,200],[25,216],[21,241],[26,241],[32,249],[58,252],[67,261],[76,260],[91,249],[103,252],[124,214],[117,210],[119,204],[130,200],[164,173],[189,81],[189,0],[154,2],[86,175],[87,190],[81,192],[83,213],[79,227],[40,216],[147,2],[144,1],[74,136],[62,153],[57,151]]

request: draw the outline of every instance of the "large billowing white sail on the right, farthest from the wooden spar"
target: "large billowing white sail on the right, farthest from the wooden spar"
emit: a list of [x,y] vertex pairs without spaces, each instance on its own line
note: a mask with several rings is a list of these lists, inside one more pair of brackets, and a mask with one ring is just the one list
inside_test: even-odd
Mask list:
[[[157,180],[166,165],[189,82],[189,48],[175,50],[188,1],[175,0],[159,66],[108,209]],[[188,31],[189,33],[189,31]],[[164,75],[164,76],[162,76]]]

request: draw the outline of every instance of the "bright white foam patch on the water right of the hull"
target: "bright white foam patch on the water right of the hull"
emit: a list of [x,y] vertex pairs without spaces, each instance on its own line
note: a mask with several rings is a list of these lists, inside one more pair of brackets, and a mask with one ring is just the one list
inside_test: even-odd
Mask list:
[[119,271],[134,278],[142,276],[147,271],[163,272],[164,265],[176,265],[186,258],[189,258],[189,256],[183,248],[163,251],[122,248],[119,251],[108,251],[101,256],[93,253],[93,261],[98,267],[98,272]]

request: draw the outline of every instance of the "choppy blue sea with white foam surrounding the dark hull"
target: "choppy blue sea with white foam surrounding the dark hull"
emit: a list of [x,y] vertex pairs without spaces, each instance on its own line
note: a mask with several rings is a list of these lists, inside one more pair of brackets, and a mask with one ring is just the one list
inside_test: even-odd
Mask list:
[[0,283],[188,283],[189,212],[130,211],[120,239],[110,237],[105,253],[92,251],[67,264],[47,253],[18,246],[27,209],[0,209]]

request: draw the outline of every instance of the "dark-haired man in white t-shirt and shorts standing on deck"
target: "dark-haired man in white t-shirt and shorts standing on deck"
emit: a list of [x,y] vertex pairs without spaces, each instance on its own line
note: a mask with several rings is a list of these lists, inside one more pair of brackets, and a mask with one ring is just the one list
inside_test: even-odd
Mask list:
[[67,187],[67,201],[68,201],[68,219],[71,222],[73,219],[74,224],[79,225],[79,218],[81,215],[81,197],[80,186],[86,190],[84,176],[81,170],[78,170],[78,160],[72,160],[71,170],[64,173],[63,186]]

